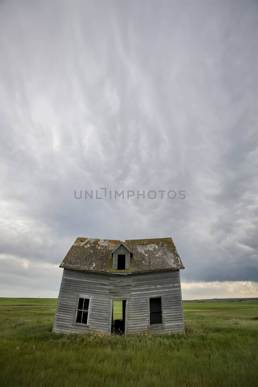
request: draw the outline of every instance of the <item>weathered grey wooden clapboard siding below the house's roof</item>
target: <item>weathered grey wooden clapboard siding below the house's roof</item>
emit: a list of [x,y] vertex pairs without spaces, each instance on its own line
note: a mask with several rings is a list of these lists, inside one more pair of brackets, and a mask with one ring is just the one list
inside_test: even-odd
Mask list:
[[[91,298],[88,325],[75,324],[79,294]],[[149,325],[149,297],[162,297],[163,323]],[[109,332],[111,299],[128,299],[128,334],[183,333],[179,270],[98,274],[64,269],[54,332]]]

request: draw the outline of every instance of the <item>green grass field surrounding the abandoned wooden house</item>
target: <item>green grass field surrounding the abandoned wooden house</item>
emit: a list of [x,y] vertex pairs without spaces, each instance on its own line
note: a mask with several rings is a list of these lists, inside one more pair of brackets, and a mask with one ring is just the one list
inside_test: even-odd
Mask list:
[[257,385],[257,301],[184,303],[185,335],[116,336],[53,334],[52,300],[0,309],[3,386]]

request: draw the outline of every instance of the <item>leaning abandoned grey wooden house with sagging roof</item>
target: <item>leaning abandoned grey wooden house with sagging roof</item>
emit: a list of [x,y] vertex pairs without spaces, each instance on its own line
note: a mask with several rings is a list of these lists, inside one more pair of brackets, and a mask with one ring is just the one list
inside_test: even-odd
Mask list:
[[[63,277],[53,332],[184,333],[179,269],[171,238],[77,238]],[[120,319],[114,304],[120,300]]]

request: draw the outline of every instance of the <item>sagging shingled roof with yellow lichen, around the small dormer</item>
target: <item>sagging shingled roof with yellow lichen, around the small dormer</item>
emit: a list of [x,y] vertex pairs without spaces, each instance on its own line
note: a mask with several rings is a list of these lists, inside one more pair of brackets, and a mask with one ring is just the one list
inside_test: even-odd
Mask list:
[[[123,273],[185,269],[171,238],[129,239],[123,243],[132,252],[130,269],[123,270]],[[119,240],[78,237],[60,267],[122,274],[121,270],[113,269],[111,254],[119,244]]]

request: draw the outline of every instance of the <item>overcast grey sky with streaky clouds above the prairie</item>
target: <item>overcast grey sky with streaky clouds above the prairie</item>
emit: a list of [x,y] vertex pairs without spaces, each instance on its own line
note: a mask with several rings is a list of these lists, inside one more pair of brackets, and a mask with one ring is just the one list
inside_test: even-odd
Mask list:
[[57,297],[77,236],[171,236],[183,298],[258,296],[257,4],[0,3],[2,296]]

